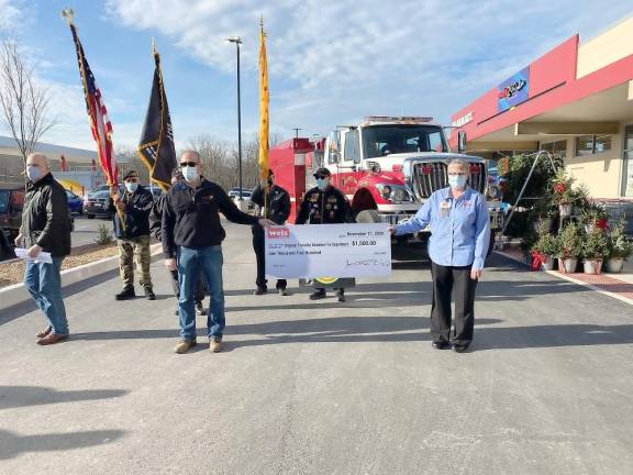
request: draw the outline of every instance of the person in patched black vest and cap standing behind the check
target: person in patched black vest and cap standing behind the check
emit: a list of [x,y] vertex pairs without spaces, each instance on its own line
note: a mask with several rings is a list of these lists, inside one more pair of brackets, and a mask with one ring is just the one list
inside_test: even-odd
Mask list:
[[[303,196],[301,208],[295,220],[295,224],[340,224],[353,223],[354,216],[347,197],[331,183],[332,174],[325,167],[319,168],[314,173],[316,187],[308,190]],[[325,298],[325,288],[318,287],[310,295],[310,300]],[[338,301],[345,301],[345,289],[336,288]]]

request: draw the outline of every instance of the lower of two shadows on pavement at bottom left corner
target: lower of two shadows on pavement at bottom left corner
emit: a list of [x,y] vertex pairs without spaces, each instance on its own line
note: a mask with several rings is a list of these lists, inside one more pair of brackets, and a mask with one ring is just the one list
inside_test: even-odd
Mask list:
[[26,452],[54,452],[110,443],[124,435],[120,430],[62,432],[20,435],[0,430],[0,460],[12,459]]

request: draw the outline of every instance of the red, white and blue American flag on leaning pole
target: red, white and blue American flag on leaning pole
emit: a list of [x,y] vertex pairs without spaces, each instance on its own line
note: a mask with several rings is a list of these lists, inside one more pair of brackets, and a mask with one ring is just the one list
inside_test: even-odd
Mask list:
[[75,40],[75,47],[77,48],[79,74],[81,76],[81,85],[84,86],[92,137],[95,142],[97,142],[99,164],[101,165],[103,175],[106,175],[108,185],[116,185],[119,180],[116,174],[116,157],[112,152],[112,124],[110,123],[110,119],[108,119],[108,111],[101,97],[101,90],[97,86],[95,76],[86,60],[84,47],[81,46],[79,36],[77,36],[77,30],[74,24],[70,24],[70,31],[73,32],[73,40]]

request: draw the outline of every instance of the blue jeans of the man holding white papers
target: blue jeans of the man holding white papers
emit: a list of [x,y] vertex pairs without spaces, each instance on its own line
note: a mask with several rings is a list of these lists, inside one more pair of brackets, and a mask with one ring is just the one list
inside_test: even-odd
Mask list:
[[53,331],[67,335],[68,321],[62,299],[62,276],[59,275],[63,261],[64,257],[53,257],[53,264],[27,261],[24,285],[40,310],[46,316]]

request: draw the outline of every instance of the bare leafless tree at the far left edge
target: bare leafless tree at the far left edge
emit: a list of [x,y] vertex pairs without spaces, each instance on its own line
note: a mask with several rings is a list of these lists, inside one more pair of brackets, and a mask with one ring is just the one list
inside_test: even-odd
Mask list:
[[35,144],[56,120],[47,114],[48,90],[34,80],[33,66],[22,56],[13,35],[0,44],[0,120],[18,144],[24,167]]

